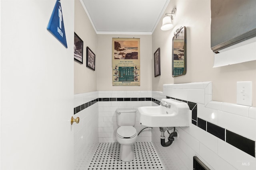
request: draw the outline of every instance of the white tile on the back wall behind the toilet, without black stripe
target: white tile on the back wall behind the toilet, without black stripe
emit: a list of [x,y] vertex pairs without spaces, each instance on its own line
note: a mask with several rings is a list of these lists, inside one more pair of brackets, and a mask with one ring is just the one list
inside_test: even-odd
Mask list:
[[[151,98],[151,91],[100,91],[99,98]],[[98,142],[116,141],[116,109],[135,108],[141,106],[151,106],[151,101],[122,101],[122,102],[98,102],[99,106],[99,138]],[[137,133],[144,128],[139,122],[139,113],[136,113],[135,128]],[[151,129],[144,129],[138,136],[137,142],[151,142]]]

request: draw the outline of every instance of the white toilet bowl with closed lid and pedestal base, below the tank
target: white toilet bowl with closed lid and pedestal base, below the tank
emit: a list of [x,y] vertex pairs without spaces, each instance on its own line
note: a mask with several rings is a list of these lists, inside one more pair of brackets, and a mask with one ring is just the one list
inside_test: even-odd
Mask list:
[[132,145],[136,142],[138,134],[133,126],[120,126],[116,131],[116,140],[120,143],[120,159],[129,162],[134,159]]

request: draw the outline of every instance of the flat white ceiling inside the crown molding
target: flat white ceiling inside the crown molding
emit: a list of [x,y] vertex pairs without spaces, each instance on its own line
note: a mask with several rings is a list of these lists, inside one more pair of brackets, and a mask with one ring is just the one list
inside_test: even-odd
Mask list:
[[97,34],[152,34],[170,0],[81,0]]

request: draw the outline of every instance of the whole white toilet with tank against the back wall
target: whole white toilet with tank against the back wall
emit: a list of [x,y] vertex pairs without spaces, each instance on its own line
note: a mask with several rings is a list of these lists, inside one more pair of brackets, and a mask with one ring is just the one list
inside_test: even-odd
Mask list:
[[138,134],[134,127],[136,121],[136,109],[119,108],[116,109],[116,140],[120,143],[120,159],[128,162],[134,158],[132,144],[137,140]]

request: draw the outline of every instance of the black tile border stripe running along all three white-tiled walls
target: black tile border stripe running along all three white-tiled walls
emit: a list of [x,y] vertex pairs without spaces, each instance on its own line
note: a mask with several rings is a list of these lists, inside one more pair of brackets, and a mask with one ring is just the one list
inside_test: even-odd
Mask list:
[[[243,137],[241,135],[238,135],[232,131],[228,131],[227,129],[224,129],[218,125],[215,125],[213,123],[210,123],[204,119],[201,119],[197,117],[197,104],[193,102],[189,102],[186,100],[181,100],[177,98],[172,98],[169,96],[166,96],[166,98],[178,100],[181,102],[185,102],[188,104],[190,110],[192,111],[192,124],[203,129],[204,131],[218,137],[219,139],[222,139],[223,141],[226,141],[230,145],[236,147],[237,149],[240,149],[247,154],[253,156],[255,158],[255,141],[250,140],[246,137]],[[78,113],[79,111],[82,111],[83,109],[92,106],[93,104],[97,102],[126,102],[126,101],[152,101],[158,105],[160,105],[160,101],[156,100],[154,98],[97,98],[95,100],[92,100],[90,102],[87,102],[85,104],[82,104],[80,106],[74,107],[74,115]]]

